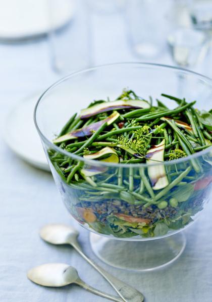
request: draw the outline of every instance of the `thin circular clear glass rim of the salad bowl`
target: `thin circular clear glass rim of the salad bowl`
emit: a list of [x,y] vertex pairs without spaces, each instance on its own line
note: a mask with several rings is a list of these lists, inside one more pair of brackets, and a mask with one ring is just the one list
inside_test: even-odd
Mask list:
[[52,143],[50,140],[48,140],[48,138],[42,133],[42,131],[40,130],[38,123],[37,123],[37,119],[36,119],[36,113],[37,113],[37,109],[38,106],[40,104],[40,102],[43,100],[43,97],[45,97],[46,93],[48,93],[50,90],[54,89],[55,87],[57,87],[58,85],[60,85],[61,83],[69,80],[70,78],[74,77],[75,75],[81,74],[81,73],[85,73],[85,72],[89,72],[92,70],[96,70],[96,69],[100,69],[103,67],[110,67],[110,66],[120,66],[120,65],[138,65],[138,66],[149,66],[149,67],[155,67],[156,69],[159,68],[164,68],[164,69],[170,69],[170,70],[179,70],[179,71],[183,71],[184,73],[187,74],[193,74],[196,75],[198,77],[201,78],[201,80],[205,80],[207,82],[209,82],[211,84],[212,87],[212,79],[210,79],[209,77],[206,77],[205,75],[202,75],[200,73],[197,73],[195,71],[191,71],[189,69],[185,69],[185,68],[181,68],[181,67],[176,67],[176,66],[171,66],[171,65],[166,65],[166,64],[157,64],[157,63],[148,63],[148,62],[118,62],[118,63],[109,63],[109,64],[101,64],[101,65],[97,65],[97,66],[93,66],[93,67],[89,67],[86,69],[80,69],[77,71],[74,71],[68,75],[66,75],[65,77],[63,77],[62,79],[56,81],[55,83],[53,83],[52,85],[50,85],[39,97],[39,99],[37,100],[37,103],[35,105],[34,108],[34,114],[33,114],[33,118],[34,118],[34,123],[35,123],[35,127],[37,132],[39,133],[41,140],[43,140],[45,142],[45,144],[47,144],[49,147],[51,147],[52,149],[55,149],[57,152],[64,154],[65,156],[71,157],[73,160],[77,160],[77,161],[81,161],[84,162],[85,164],[89,165],[89,166],[97,166],[97,167],[113,167],[113,168],[139,168],[139,167],[149,167],[149,166],[159,166],[159,165],[165,165],[165,166],[169,166],[169,165],[174,165],[174,164],[178,164],[178,163],[183,163],[189,160],[192,160],[194,158],[200,157],[202,155],[205,155],[207,153],[209,153],[212,150],[212,145],[210,147],[207,147],[199,152],[196,152],[192,155],[177,159],[177,160],[172,160],[172,161],[164,161],[164,162],[158,162],[158,163],[150,163],[150,164],[146,164],[146,163],[138,163],[138,164],[133,164],[133,163],[126,163],[126,164],[122,164],[122,163],[108,163],[108,162],[100,162],[97,160],[88,160],[88,159],[84,159],[81,156],[78,156],[76,154],[73,154],[71,152],[68,152],[60,147],[58,147],[57,145],[55,145],[54,143]]

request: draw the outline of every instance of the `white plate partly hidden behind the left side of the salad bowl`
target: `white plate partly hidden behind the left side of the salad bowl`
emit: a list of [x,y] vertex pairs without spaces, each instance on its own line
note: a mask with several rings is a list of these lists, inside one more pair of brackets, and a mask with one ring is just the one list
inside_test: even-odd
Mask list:
[[4,127],[4,139],[24,161],[36,168],[50,171],[33,120],[34,107],[42,92],[25,98],[9,113]]

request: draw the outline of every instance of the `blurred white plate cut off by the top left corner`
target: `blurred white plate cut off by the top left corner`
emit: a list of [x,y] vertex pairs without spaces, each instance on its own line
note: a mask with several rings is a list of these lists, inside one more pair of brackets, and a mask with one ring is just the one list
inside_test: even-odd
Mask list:
[[0,0],[0,39],[39,36],[73,17],[73,0]]

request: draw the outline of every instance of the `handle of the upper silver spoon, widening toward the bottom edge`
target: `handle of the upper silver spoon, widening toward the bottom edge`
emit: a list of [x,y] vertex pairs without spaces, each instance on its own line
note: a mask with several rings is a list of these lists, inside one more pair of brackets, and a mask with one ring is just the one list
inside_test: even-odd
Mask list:
[[104,277],[104,279],[106,279],[113,286],[113,288],[125,302],[142,302],[144,300],[144,296],[140,291],[114,277],[103,268],[98,266],[93,260],[88,258],[77,243],[75,245],[72,241],[71,245],[90,265],[92,265]]

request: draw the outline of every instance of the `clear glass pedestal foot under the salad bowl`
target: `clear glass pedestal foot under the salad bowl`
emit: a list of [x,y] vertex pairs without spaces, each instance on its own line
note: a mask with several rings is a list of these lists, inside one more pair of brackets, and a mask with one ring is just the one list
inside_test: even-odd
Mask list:
[[178,259],[185,249],[186,238],[180,232],[161,239],[127,241],[90,233],[90,244],[104,263],[126,270],[150,271]]

